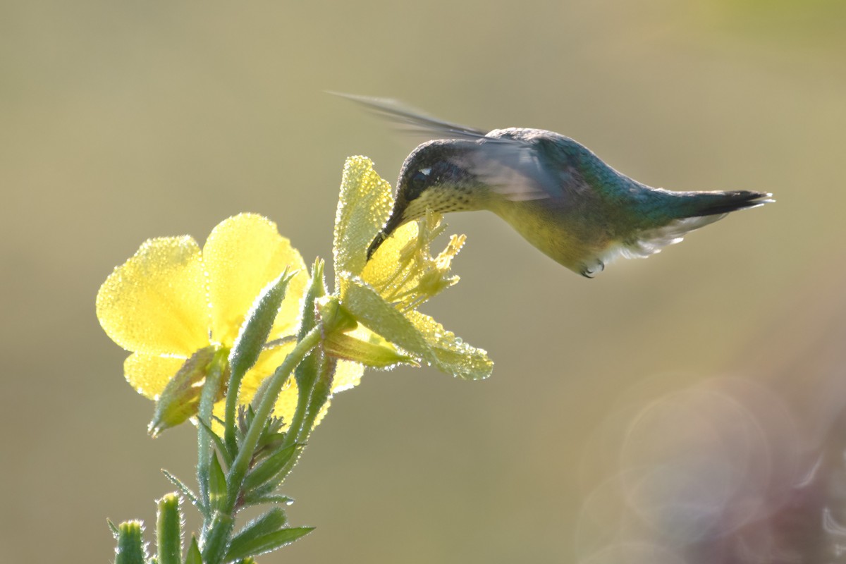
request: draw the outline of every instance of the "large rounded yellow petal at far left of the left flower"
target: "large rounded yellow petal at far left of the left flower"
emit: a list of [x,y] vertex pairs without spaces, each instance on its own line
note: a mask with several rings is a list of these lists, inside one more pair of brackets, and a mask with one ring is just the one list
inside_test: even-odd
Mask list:
[[195,240],[147,240],[103,282],[96,312],[107,335],[129,351],[187,358],[206,347],[206,277]]

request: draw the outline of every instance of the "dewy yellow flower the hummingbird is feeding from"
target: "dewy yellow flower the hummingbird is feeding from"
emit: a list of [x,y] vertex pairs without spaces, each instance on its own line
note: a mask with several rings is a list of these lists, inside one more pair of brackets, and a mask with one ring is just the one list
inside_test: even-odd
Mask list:
[[373,163],[363,156],[347,159],[335,216],[335,288],[343,309],[366,328],[359,327],[354,336],[364,342],[391,342],[448,374],[487,377],[493,363],[484,350],[417,311],[458,282],[449,267],[464,235],[453,235],[447,248],[432,257],[431,241],[444,227],[441,215],[430,213],[398,228],[367,260],[366,249],[392,208],[391,185],[373,170]]

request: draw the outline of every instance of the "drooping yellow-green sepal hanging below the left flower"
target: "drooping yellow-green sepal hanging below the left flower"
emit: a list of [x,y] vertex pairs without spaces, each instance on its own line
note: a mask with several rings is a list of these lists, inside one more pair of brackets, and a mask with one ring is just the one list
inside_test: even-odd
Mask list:
[[[153,419],[147,426],[150,435],[157,437],[163,430],[182,424],[197,414],[203,382],[216,352],[217,347],[214,345],[201,348],[168,381],[156,402]],[[221,388],[217,391],[217,399],[222,397]]]

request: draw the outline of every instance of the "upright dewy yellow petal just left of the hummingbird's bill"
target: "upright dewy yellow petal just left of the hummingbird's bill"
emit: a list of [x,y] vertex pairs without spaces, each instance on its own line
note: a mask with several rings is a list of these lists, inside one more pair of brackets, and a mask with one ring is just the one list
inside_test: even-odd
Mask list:
[[393,207],[391,185],[373,170],[364,156],[350,156],[343,165],[341,195],[335,215],[335,287],[341,272],[360,273],[367,248],[387,222]]

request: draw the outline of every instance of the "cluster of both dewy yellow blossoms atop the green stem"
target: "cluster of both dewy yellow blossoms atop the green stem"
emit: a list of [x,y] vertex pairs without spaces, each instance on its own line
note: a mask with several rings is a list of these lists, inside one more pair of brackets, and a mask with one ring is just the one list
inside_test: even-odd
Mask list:
[[[228,373],[230,352],[256,297],[286,271],[285,298],[255,364],[237,391],[227,391],[227,379],[221,379],[215,404],[219,418],[227,393],[237,393],[242,405],[253,401],[294,348],[303,312],[315,308],[324,324],[321,348],[337,359],[332,393],[356,386],[365,365],[425,363],[462,378],[489,375],[492,362],[485,351],[418,311],[458,282],[450,263],[464,244],[463,235],[453,235],[446,249],[432,256],[431,241],[444,227],[439,215],[429,214],[400,227],[367,260],[366,249],[392,206],[391,187],[372,163],[349,158],[334,231],[335,293],[313,304],[301,304],[310,280],[299,252],[273,222],[255,214],[224,220],[202,249],[188,236],[153,238],[118,266],[97,294],[97,318],[107,335],[131,352],[124,362],[127,381],[152,400],[175,394],[179,403],[177,413],[157,413],[151,432],[195,415],[206,375]],[[345,321],[330,322],[330,317]],[[289,421],[297,401],[292,375],[274,416]]]

